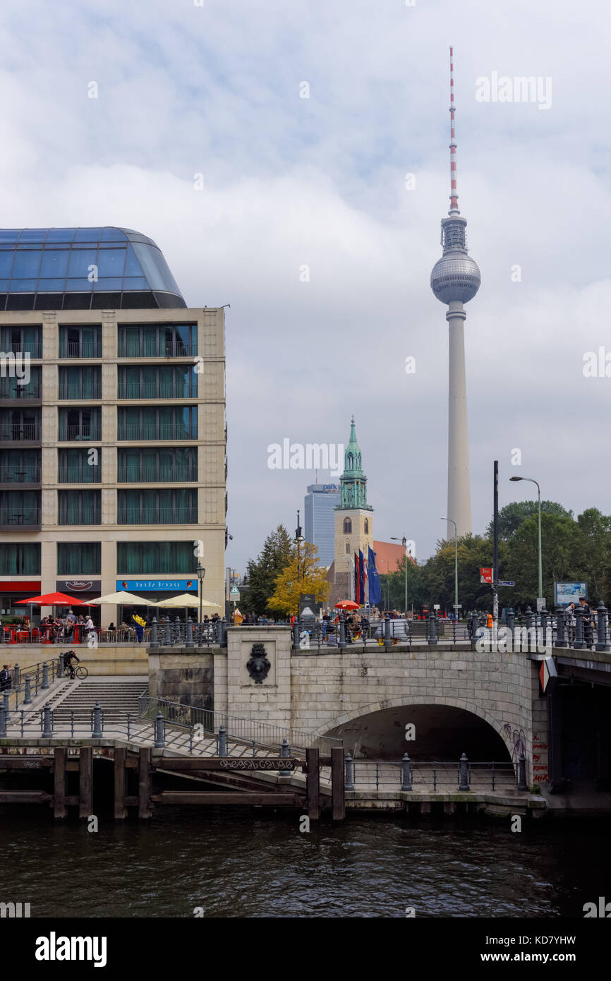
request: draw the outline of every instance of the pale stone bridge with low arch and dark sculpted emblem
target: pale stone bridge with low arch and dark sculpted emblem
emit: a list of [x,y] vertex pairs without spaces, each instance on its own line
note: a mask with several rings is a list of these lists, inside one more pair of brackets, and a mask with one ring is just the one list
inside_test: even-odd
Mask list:
[[[264,645],[270,664],[259,680],[247,667],[253,645]],[[515,762],[524,750],[536,783],[547,779],[539,666],[536,655],[470,645],[292,650],[288,627],[241,626],[229,629],[227,648],[150,649],[149,694],[293,729],[312,743],[337,736],[356,757],[455,760],[465,751]]]

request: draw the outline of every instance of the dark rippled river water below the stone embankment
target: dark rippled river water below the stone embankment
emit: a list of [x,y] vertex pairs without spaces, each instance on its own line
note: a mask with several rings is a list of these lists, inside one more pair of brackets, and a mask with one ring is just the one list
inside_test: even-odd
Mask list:
[[[0,901],[31,916],[583,917],[610,893],[608,821],[294,816],[164,808],[97,833],[0,808]],[[605,830],[606,826],[606,830]]]

